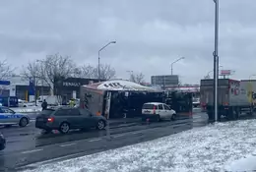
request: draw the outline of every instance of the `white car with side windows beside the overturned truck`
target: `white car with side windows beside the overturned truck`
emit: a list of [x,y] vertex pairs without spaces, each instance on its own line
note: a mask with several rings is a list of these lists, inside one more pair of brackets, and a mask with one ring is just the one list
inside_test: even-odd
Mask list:
[[175,120],[176,111],[167,104],[160,102],[148,102],[142,107],[142,120],[155,118],[157,121],[163,119]]

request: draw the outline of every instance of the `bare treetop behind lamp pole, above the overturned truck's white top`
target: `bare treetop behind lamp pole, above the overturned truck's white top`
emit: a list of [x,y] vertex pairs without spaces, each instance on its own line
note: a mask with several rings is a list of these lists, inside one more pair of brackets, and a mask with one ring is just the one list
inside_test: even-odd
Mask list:
[[[100,65],[100,76],[99,79],[101,80],[110,80],[115,77],[115,69],[112,68],[110,65],[104,64]],[[94,78],[98,78],[98,67],[94,69]]]

